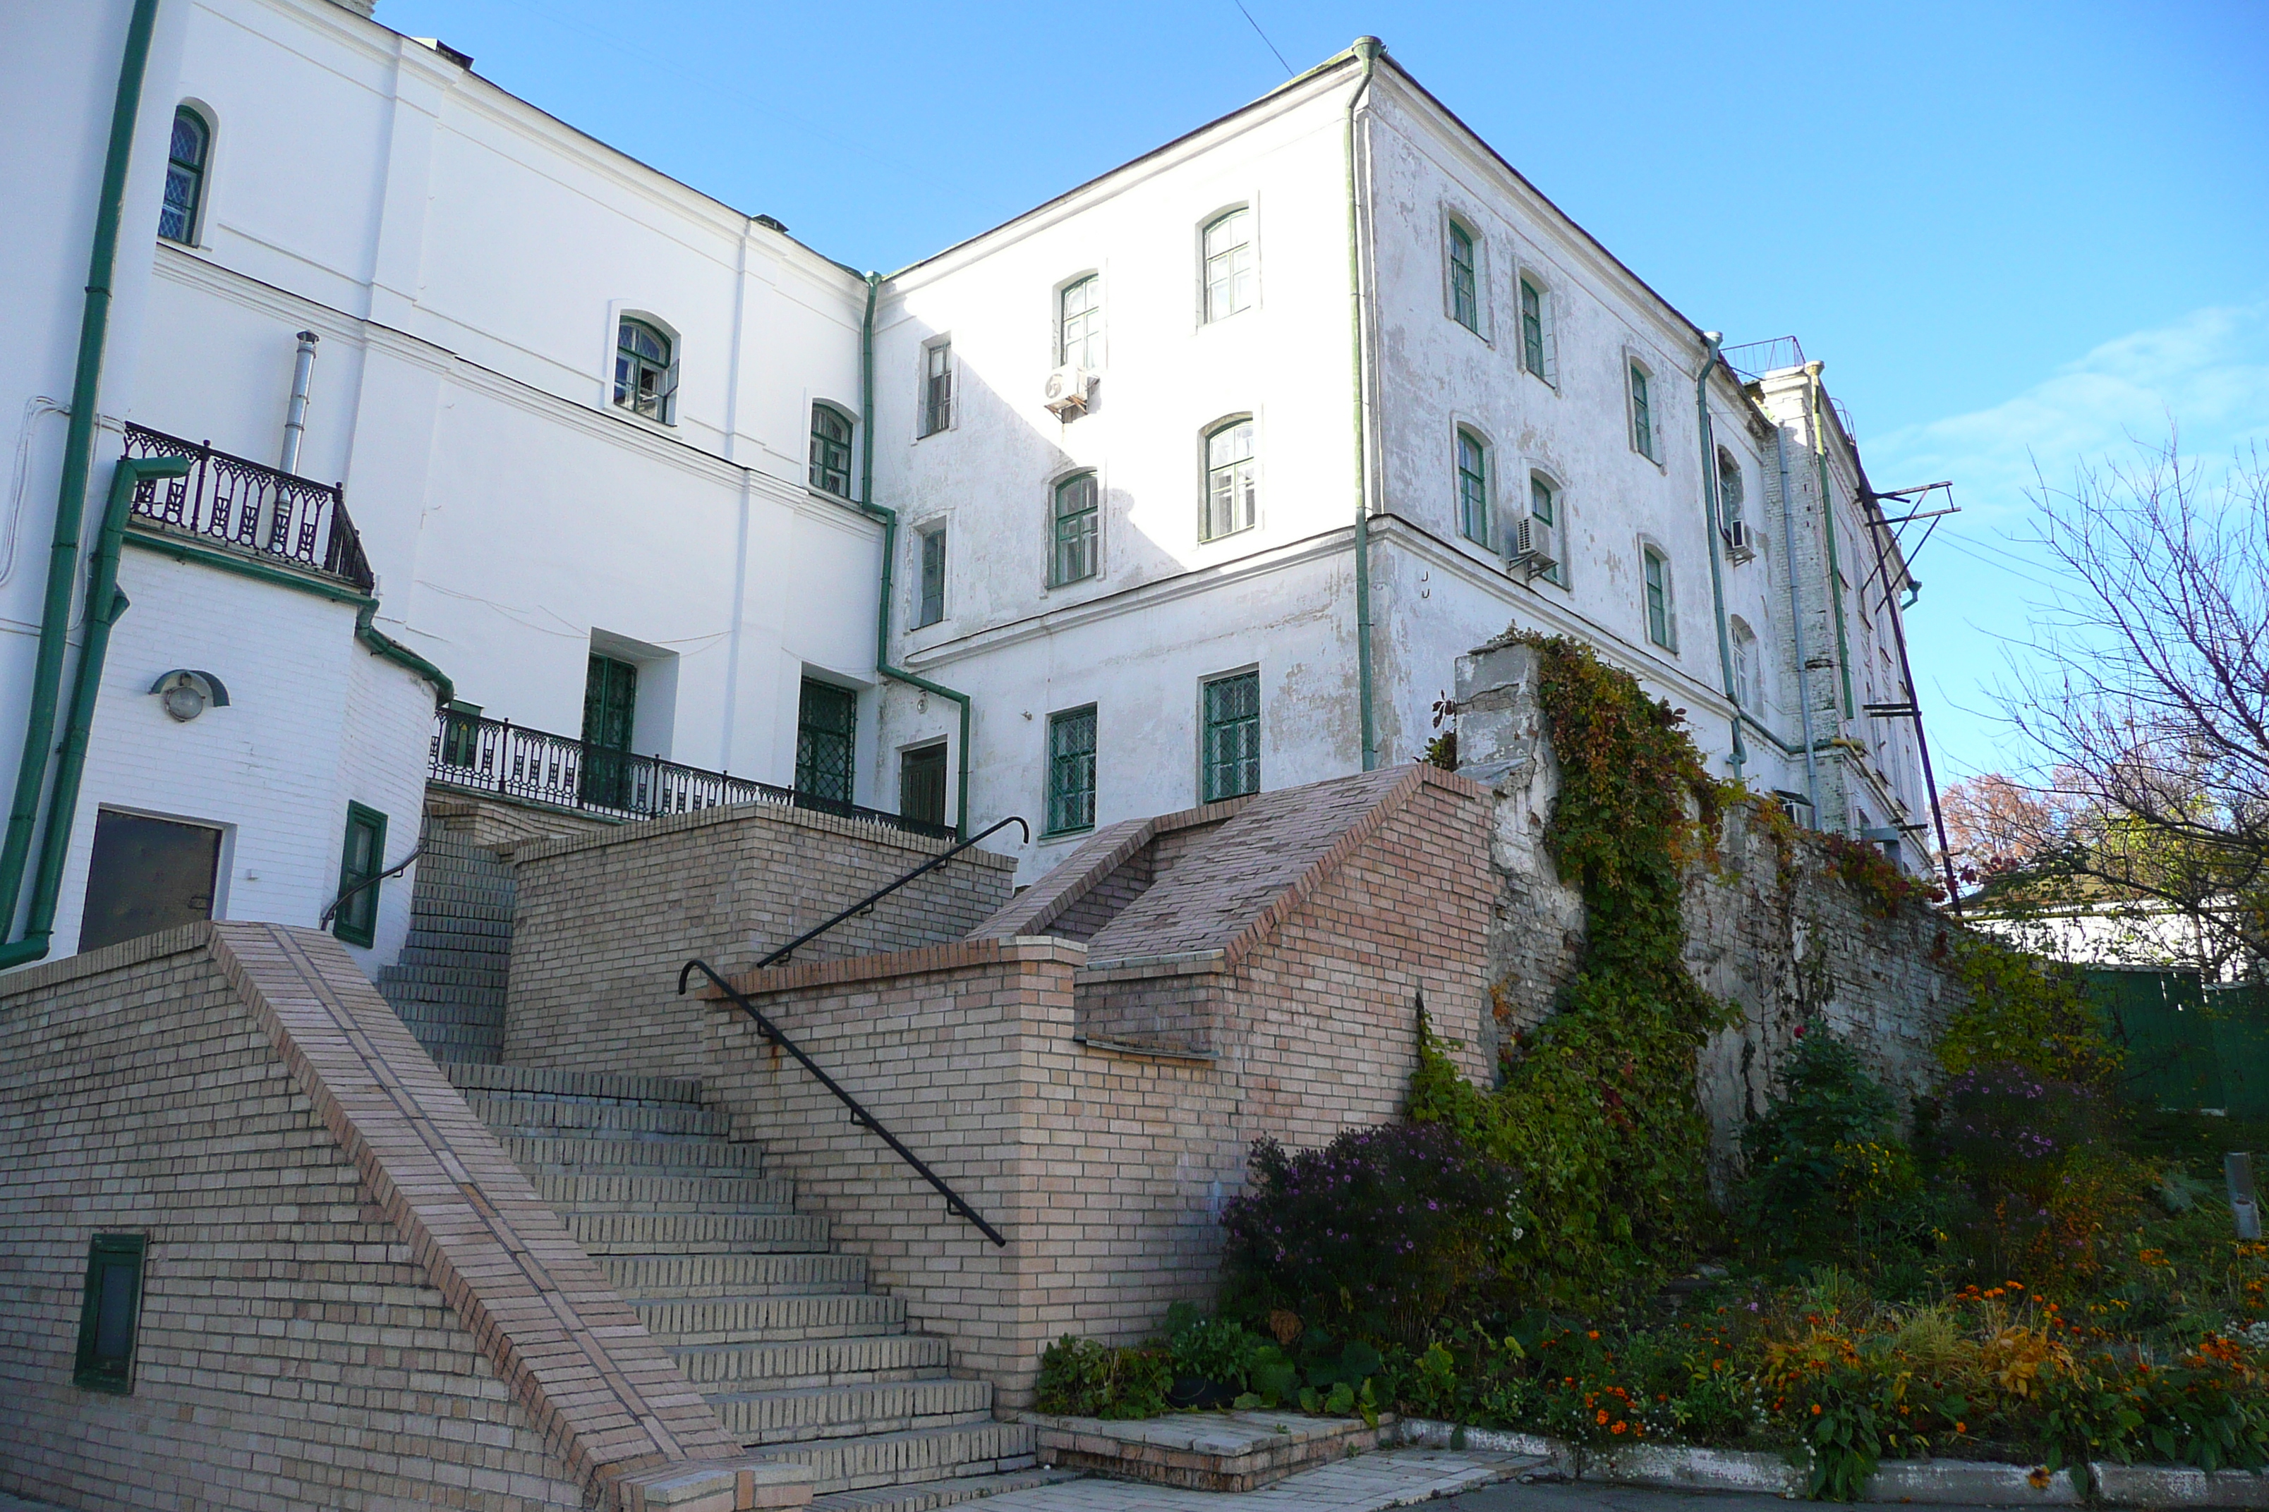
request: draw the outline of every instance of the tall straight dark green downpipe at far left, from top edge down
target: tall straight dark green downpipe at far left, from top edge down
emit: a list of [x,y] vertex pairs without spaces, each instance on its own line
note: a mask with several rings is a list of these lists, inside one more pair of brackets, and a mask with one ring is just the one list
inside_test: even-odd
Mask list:
[[[70,431],[64,438],[64,476],[54,490],[54,540],[48,549],[48,594],[39,617],[39,655],[32,664],[23,757],[16,762],[16,798],[7,816],[7,839],[0,841],[0,938],[16,925],[23,873],[32,859],[32,827],[39,823],[39,793],[48,784],[54,703],[64,687],[64,648],[70,635],[70,587],[79,569],[79,530],[86,526],[86,476],[95,460],[95,404],[102,397],[102,349],[111,326],[118,220],[125,213],[127,165],[134,156],[134,125],[141,113],[154,25],[157,0],[134,0],[125,52],[118,59],[118,97],[111,102],[111,141],[102,156],[102,190],[95,199],[95,245],[86,258],[79,360],[70,379]],[[93,635],[93,603],[88,605],[88,635]],[[36,961],[43,954],[48,954],[45,941],[39,943],[36,954],[20,959]]]

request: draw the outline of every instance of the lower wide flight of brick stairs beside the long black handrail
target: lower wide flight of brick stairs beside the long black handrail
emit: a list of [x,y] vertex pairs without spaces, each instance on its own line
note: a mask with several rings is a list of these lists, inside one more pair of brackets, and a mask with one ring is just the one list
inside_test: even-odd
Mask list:
[[812,1467],[815,1512],[928,1512],[1060,1478],[1035,1469],[1030,1426],[994,1421],[989,1383],[955,1381],[946,1342],[908,1333],[867,1263],[828,1249],[760,1147],[726,1138],[699,1081],[447,1070],[726,1430]]

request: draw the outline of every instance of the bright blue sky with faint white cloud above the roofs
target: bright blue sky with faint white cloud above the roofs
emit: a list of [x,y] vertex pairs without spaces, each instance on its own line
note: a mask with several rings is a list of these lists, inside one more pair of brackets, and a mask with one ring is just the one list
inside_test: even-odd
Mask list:
[[[2269,440],[2269,5],[1246,0],[1389,50],[1695,324],[1827,360],[1876,487],[1956,481],[1908,619],[1940,780],[2024,764],[1994,637],[2053,585],[2033,467]],[[901,267],[1282,82],[1234,0],[381,0],[828,256]]]

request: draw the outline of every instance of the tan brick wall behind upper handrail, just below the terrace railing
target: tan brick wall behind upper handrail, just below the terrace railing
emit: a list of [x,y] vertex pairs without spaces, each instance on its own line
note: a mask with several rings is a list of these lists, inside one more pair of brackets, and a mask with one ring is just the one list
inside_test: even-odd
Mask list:
[[[747,968],[948,848],[760,802],[517,846],[504,1061],[703,1077],[701,1011],[676,995],[690,957]],[[964,850],[799,954],[960,938],[1007,902],[1014,868]]]

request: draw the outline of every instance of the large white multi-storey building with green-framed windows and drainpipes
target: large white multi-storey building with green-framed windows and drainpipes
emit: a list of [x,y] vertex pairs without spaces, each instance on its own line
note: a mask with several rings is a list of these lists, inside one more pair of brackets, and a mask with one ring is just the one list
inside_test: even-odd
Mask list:
[[[134,11],[20,7],[0,54],[45,143],[0,168],[11,753]],[[88,519],[123,453],[191,476],[136,503],[84,784],[36,825],[50,954],[315,923],[408,855],[433,762],[928,823],[967,784],[1041,870],[1416,759],[1507,623],[1593,642],[1824,827],[1920,823],[1913,721],[1867,714],[1906,700],[1910,585],[1817,374],[1709,363],[1373,43],[887,279],[343,0],[157,0],[132,102]],[[377,966],[408,875],[370,895]]]

